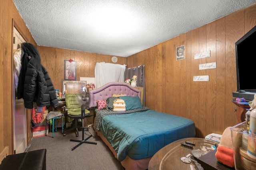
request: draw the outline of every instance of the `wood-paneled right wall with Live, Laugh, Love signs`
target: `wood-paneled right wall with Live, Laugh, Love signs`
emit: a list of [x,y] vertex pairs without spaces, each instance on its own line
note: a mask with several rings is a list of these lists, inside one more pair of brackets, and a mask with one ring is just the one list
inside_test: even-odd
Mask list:
[[[146,106],[192,119],[196,137],[222,134],[238,124],[231,102],[236,91],[235,42],[255,25],[256,4],[128,57],[130,67],[145,64]],[[181,45],[185,59],[176,61]],[[194,59],[206,51],[211,57]],[[199,64],[212,62],[216,69],[199,70]],[[198,75],[209,75],[209,82],[194,82]]]

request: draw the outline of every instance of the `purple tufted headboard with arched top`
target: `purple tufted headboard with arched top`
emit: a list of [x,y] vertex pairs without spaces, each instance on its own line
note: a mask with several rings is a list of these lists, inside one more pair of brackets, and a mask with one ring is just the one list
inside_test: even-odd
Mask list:
[[113,94],[126,94],[127,96],[139,96],[140,90],[125,82],[110,82],[95,90],[89,91],[89,107],[96,107],[97,100],[106,100]]

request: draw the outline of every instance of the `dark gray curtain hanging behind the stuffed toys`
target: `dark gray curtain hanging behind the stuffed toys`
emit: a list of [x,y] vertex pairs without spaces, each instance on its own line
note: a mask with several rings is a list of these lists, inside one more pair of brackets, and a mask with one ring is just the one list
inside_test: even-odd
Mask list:
[[144,64],[140,66],[136,66],[133,68],[126,68],[124,72],[124,80],[126,79],[132,79],[134,75],[137,76],[137,86],[138,87],[143,87],[143,106],[145,106],[145,69],[144,69]]

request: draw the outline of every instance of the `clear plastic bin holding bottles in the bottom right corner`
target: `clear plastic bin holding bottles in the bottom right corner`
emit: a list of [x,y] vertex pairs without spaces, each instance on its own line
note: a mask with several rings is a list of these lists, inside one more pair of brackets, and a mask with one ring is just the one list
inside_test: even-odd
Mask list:
[[[234,149],[234,162],[236,170],[256,170],[256,160],[247,155],[247,121],[230,128]],[[251,137],[255,137],[252,135]]]

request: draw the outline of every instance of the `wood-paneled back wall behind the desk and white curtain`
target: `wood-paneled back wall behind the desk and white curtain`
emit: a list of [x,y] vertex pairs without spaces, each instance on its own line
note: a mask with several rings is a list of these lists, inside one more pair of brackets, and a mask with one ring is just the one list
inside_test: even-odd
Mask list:
[[[64,60],[75,60],[77,62],[76,80],[80,77],[94,77],[96,63],[111,61],[112,55],[88,53],[84,51],[74,51],[68,49],[58,49],[53,47],[38,46],[42,65],[50,74],[55,89],[62,92],[62,81],[64,80]],[[126,64],[126,58],[117,57],[114,64]]]

